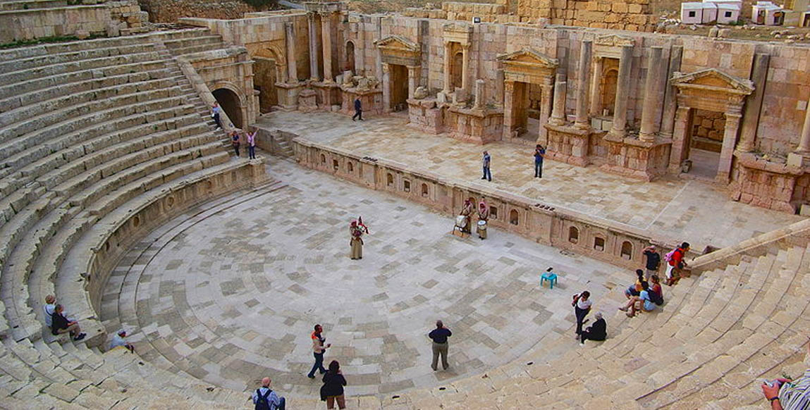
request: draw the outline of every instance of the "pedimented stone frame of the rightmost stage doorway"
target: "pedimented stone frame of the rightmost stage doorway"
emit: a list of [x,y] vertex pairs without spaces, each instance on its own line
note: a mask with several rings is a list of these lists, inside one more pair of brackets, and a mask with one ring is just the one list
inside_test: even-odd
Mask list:
[[[754,91],[751,80],[736,78],[715,69],[694,73],[675,73],[670,79],[676,87],[677,110],[669,169],[680,173],[684,160],[689,159],[694,112],[722,112],[725,119],[723,142],[718,156],[715,180],[727,184],[731,175],[731,159],[737,143],[745,97]],[[714,157],[712,157],[714,158]]]

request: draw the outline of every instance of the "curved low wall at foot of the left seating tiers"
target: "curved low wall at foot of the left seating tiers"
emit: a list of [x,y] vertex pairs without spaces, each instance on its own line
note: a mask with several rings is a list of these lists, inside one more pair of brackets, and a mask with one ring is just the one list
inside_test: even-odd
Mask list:
[[[109,273],[124,253],[146,236],[151,230],[163,225],[195,205],[212,201],[240,189],[255,188],[266,182],[267,175],[261,160],[237,163],[224,167],[216,173],[201,175],[188,180],[179,188],[162,189],[151,201],[145,201],[136,209],[130,209],[126,218],[109,226],[92,244],[92,253],[87,260],[87,298],[96,312],[101,309],[101,297]],[[147,192],[145,195],[149,195]]]

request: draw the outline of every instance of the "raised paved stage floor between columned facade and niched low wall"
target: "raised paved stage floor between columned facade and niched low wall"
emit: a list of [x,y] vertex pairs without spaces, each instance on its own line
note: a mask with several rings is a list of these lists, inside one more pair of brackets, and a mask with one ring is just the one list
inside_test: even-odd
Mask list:
[[[574,167],[551,160],[544,163],[544,178],[539,180],[534,178],[532,148],[503,142],[476,146],[422,133],[406,123],[398,116],[352,121],[330,112],[272,112],[263,115],[258,126],[536,198],[616,226],[648,230],[653,238],[686,240],[697,251],[707,245],[731,246],[802,218],[731,201],[723,188],[696,180],[668,177],[641,182],[595,166]],[[482,150],[492,155],[492,183],[480,180]]]

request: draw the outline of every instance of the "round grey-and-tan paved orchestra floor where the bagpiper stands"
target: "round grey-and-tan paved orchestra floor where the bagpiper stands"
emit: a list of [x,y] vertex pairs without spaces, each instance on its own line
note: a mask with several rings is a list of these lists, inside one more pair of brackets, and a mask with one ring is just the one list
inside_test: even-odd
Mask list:
[[[615,270],[498,230],[459,239],[424,206],[292,163],[273,169],[286,188],[177,218],[113,273],[104,303],[117,301],[146,360],[223,387],[270,375],[280,391],[317,395],[305,374],[322,323],[326,364],[341,361],[350,394],[432,386],[513,361],[542,336],[573,336],[570,294],[598,298]],[[357,215],[371,235],[350,260]],[[548,266],[561,273],[554,290],[538,285]],[[454,332],[448,371],[430,369],[436,319]]]

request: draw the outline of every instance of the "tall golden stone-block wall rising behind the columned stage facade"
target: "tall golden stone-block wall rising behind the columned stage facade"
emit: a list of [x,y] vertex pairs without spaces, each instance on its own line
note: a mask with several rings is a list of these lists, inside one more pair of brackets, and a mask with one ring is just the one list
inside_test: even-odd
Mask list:
[[658,21],[651,14],[650,0],[519,0],[522,22],[548,19],[552,24],[652,32]]

